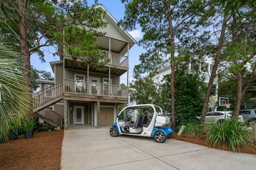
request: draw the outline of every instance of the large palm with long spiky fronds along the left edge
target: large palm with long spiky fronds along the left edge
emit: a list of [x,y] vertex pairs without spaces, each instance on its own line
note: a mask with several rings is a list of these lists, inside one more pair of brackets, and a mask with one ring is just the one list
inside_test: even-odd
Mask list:
[[[20,54],[0,38],[0,139],[8,141],[10,130],[21,120],[30,119],[31,94],[23,85],[22,65],[14,60]],[[15,117],[15,119],[14,119]],[[14,127],[11,127],[14,124]]]

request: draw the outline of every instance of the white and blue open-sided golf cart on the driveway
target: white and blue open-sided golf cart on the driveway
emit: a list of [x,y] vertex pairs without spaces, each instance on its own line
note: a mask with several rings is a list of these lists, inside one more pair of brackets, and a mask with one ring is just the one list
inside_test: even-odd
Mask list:
[[110,135],[154,137],[156,142],[164,143],[166,139],[172,137],[173,130],[166,126],[169,123],[170,118],[163,116],[159,106],[153,104],[127,106],[118,114],[116,123],[110,128]]

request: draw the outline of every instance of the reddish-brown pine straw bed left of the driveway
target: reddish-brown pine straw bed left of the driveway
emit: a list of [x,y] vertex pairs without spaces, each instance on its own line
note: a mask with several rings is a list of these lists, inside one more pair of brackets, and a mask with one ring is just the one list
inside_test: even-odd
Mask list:
[[0,144],[1,170],[60,170],[64,130],[35,133],[31,139]]

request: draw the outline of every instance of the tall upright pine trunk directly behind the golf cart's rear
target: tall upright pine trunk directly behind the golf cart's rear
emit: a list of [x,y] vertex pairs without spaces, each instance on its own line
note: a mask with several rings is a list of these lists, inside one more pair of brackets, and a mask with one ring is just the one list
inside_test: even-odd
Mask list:
[[171,122],[172,122],[172,129],[175,131],[176,129],[176,121],[175,121],[175,93],[174,93],[174,77],[175,77],[175,46],[174,46],[174,30],[172,26],[172,18],[170,15],[170,6],[167,4],[167,17],[168,17],[168,25],[169,25],[169,32],[170,32],[170,41],[171,41]]

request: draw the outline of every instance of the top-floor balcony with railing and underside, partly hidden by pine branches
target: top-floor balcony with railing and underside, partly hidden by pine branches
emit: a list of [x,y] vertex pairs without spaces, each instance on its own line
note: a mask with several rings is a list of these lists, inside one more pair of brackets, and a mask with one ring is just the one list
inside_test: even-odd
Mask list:
[[122,74],[128,71],[128,56],[110,53],[102,50],[99,51],[102,54],[102,56],[104,56],[101,61],[109,61],[106,62],[104,66],[99,64],[97,67],[92,65],[89,65],[88,67],[88,65],[83,63],[82,61],[74,61],[72,59],[72,56],[68,55],[67,53],[64,53],[65,68],[96,72],[101,74],[109,74],[110,71],[110,74],[114,76],[121,76]]

